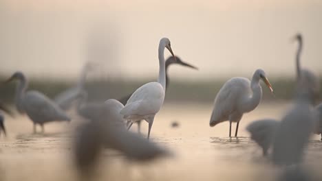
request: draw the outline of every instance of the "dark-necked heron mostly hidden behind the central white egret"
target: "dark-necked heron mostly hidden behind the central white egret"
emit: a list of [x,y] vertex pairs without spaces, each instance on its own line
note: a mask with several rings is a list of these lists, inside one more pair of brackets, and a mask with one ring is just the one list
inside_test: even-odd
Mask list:
[[[180,64],[181,66],[183,67],[189,67],[191,69],[198,69],[197,67],[191,65],[191,64],[188,64],[184,61],[182,61],[178,56],[175,56],[175,58],[173,56],[169,57],[166,61],[165,61],[165,71],[166,71],[166,91],[167,91],[167,88],[168,88],[168,85],[169,85],[169,76],[168,76],[168,69],[169,69],[169,66],[171,64]],[[129,100],[129,98],[131,97],[132,94],[130,95],[127,95],[126,97],[123,97],[122,99],[120,99],[120,103],[122,103],[123,105],[127,104],[127,100]],[[128,123],[131,123],[130,121]],[[138,123],[138,132],[140,132],[140,125],[141,125],[141,120],[140,121],[137,121]]]

